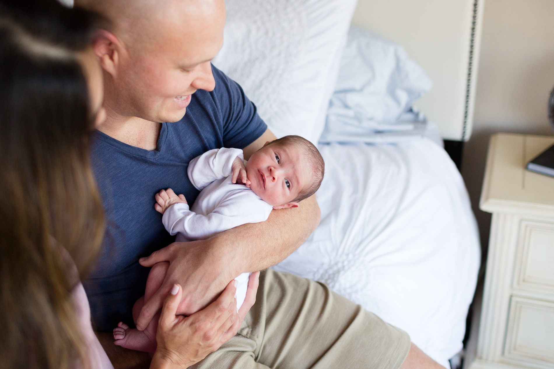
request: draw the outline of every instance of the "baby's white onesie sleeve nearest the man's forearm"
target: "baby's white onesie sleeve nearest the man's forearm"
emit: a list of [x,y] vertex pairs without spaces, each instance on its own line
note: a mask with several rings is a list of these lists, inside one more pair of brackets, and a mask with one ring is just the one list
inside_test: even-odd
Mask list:
[[162,222],[172,236],[182,233],[189,240],[204,240],[243,224],[263,222],[272,209],[252,190],[235,190],[208,215],[196,214],[179,202],[168,207]]

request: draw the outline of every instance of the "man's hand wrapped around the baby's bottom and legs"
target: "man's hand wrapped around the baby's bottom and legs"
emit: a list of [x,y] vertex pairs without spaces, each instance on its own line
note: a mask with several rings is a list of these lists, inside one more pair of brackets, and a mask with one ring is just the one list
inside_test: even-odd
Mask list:
[[136,322],[137,329],[146,328],[174,284],[183,287],[178,314],[191,315],[212,303],[229,281],[244,270],[244,266],[234,259],[237,253],[232,255],[222,252],[225,251],[208,239],[175,242],[141,258],[139,262],[144,267],[152,267],[161,261],[170,262],[170,266],[162,287],[142,307]]

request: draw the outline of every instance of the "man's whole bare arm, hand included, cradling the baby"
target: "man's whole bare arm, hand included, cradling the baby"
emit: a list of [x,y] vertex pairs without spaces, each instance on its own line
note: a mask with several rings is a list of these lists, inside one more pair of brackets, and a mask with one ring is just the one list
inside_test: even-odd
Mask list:
[[[269,129],[244,148],[249,158],[275,136]],[[161,308],[173,284],[183,286],[178,313],[189,315],[204,308],[243,272],[254,272],[282,261],[296,250],[319,224],[321,213],[315,195],[299,207],[273,210],[265,222],[244,224],[208,240],[175,242],[142,258],[142,266],[170,262],[162,287],[143,306],[137,328],[144,329]]]

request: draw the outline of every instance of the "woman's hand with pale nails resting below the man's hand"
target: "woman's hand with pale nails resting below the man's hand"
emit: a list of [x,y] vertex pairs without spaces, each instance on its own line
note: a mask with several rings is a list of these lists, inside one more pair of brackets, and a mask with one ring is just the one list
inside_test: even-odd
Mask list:
[[252,273],[247,295],[237,314],[235,280],[207,308],[190,316],[175,315],[181,301],[181,285],[175,284],[163,304],[156,334],[153,368],[187,368],[214,352],[237,334],[244,316],[255,302],[259,272]]

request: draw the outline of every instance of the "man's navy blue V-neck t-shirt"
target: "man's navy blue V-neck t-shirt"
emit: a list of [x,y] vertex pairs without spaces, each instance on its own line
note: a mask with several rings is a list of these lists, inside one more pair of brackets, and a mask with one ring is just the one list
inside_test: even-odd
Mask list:
[[104,250],[84,286],[99,331],[112,331],[119,321],[133,325],[132,306],[144,294],[150,271],[139,258],[175,240],[154,210],[154,195],[172,188],[192,204],[199,191],[188,179],[188,162],[215,148],[242,149],[267,128],[240,86],[213,66],[212,71],[215,89],[196,91],[180,121],[162,123],[156,150],[94,134],[91,164],[107,227]]

